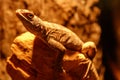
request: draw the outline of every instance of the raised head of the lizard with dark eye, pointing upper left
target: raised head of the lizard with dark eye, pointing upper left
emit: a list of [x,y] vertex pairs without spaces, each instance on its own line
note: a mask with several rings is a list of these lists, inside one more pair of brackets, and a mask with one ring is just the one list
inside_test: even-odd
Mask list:
[[42,26],[40,25],[41,19],[32,11],[26,9],[17,9],[16,15],[28,31],[35,35],[40,34],[42,30]]

